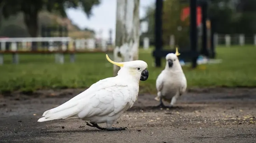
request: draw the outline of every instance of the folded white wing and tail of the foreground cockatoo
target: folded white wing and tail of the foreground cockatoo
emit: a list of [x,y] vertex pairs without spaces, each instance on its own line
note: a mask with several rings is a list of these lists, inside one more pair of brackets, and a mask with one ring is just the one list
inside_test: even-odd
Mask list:
[[66,103],[47,110],[38,122],[72,117],[88,118],[94,115],[114,115],[131,102],[130,90],[115,77],[103,79]]

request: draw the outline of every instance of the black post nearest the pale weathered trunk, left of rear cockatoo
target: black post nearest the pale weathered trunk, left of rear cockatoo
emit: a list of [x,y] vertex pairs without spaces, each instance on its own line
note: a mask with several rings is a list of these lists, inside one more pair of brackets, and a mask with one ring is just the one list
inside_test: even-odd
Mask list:
[[[156,0],[155,10],[155,51],[162,49],[162,7],[163,0]],[[161,57],[155,57],[156,67],[161,67]]]

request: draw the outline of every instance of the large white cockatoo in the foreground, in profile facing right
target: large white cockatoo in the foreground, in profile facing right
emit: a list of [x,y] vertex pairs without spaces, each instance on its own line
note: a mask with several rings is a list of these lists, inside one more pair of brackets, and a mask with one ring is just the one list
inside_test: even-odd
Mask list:
[[[117,76],[102,79],[66,103],[45,111],[38,122],[81,119],[90,122],[86,125],[101,130],[125,130],[112,125],[137,100],[139,82],[148,78],[147,63],[142,60],[114,62],[108,55],[106,58],[121,67]],[[99,127],[98,123],[106,123],[106,128]]]

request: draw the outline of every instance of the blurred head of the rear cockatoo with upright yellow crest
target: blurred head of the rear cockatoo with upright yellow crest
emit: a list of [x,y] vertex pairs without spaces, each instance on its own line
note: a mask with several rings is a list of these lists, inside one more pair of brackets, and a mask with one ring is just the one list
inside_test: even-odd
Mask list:
[[180,61],[178,59],[178,56],[180,53],[178,52],[178,48],[176,48],[176,52],[174,53],[169,53],[166,55],[166,67],[168,68],[174,68],[180,65]]

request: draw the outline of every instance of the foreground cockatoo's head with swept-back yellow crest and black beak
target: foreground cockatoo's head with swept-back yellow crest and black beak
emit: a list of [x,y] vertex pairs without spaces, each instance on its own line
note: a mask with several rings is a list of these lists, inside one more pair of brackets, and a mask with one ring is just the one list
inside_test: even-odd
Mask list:
[[[114,62],[108,55],[106,58],[112,64],[121,67],[119,71],[125,71],[126,73],[140,79],[141,81],[146,81],[148,78],[147,63],[143,60],[133,60],[127,62]],[[118,72],[119,73],[119,72]]]

